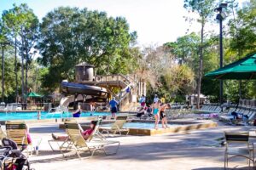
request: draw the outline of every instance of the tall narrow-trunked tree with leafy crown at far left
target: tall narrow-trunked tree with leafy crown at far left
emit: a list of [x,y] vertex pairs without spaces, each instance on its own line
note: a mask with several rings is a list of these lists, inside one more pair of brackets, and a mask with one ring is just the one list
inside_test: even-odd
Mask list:
[[[22,82],[22,101],[26,99],[27,90],[27,71],[28,65],[31,63],[30,52],[36,48],[36,42],[38,40],[38,26],[39,21],[31,8],[26,3],[21,3],[20,6],[16,6],[3,11],[2,15],[3,29],[6,37],[13,46],[18,46],[21,56],[21,82]],[[15,52],[16,56],[16,52]],[[17,59],[15,58],[15,61]],[[26,60],[25,70],[26,75],[24,76],[24,60]],[[15,65],[16,62],[15,62]],[[17,74],[17,68],[15,68]],[[25,77],[25,84],[24,84]],[[17,82],[17,75],[16,75]]]

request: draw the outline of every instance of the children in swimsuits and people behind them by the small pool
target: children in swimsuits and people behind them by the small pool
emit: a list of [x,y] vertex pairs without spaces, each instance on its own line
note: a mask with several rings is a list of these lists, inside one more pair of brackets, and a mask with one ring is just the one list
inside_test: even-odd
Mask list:
[[166,109],[171,109],[170,104],[165,104],[162,102],[157,94],[154,95],[154,102],[152,105],[149,105],[146,107],[146,97],[144,95],[141,96],[139,99],[139,103],[141,104],[141,109],[138,111],[137,116],[142,116],[143,111],[149,112],[150,114],[154,116],[155,122],[154,122],[154,128],[158,129],[158,124],[161,120],[162,127],[166,128],[168,127],[167,117],[166,117]]

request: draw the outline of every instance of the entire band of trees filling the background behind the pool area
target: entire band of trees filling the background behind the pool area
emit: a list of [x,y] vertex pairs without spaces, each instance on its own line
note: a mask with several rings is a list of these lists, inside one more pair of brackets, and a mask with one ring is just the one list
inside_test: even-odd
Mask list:
[[[148,82],[148,99],[160,94],[166,101],[183,101],[186,94],[200,92],[218,102],[218,80],[203,77],[219,67],[218,32],[209,34],[206,29],[207,24],[217,23],[214,8],[218,3],[184,0],[189,12],[185,20],[197,22],[201,28],[176,41],[144,48],[137,47],[137,32],[130,30],[124,17],[60,7],[49,11],[40,22],[27,4],[14,4],[0,19],[0,43],[9,43],[4,48],[5,97],[13,101],[15,88],[23,95],[27,89],[39,94],[54,92],[62,80],[73,81],[74,65],[85,61],[96,66],[96,74],[137,74]],[[254,0],[241,7],[236,0],[229,2],[224,65],[255,52],[255,8]],[[255,81],[241,81],[242,97],[255,98],[255,86]],[[236,101],[238,88],[237,81],[224,81],[224,99]]]

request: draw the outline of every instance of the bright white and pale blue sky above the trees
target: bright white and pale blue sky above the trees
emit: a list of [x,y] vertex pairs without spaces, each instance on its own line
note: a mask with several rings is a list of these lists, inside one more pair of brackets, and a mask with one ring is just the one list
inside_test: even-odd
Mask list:
[[[130,30],[137,31],[137,42],[141,46],[175,41],[188,29],[200,31],[198,24],[189,26],[183,18],[188,16],[183,0],[0,0],[0,13],[12,8],[13,3],[27,3],[39,20],[60,6],[86,7],[105,11],[113,17],[123,16],[130,24]],[[218,25],[209,27],[218,29]]]

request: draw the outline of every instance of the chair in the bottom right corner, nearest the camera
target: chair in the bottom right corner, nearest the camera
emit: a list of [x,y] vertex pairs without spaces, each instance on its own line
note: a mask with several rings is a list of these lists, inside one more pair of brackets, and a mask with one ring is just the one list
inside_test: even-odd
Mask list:
[[251,161],[253,162],[254,167],[254,147],[253,144],[249,143],[249,133],[224,132],[224,137],[226,140],[226,148],[224,152],[224,169],[228,167],[229,160],[233,157],[244,157],[249,161],[249,167]]

